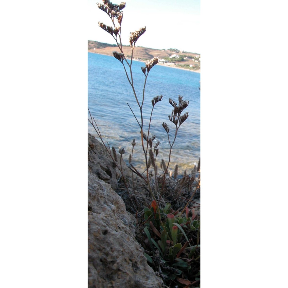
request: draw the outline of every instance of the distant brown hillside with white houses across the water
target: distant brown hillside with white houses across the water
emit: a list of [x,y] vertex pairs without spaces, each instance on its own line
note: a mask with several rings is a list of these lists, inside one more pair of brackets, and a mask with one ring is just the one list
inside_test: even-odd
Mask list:
[[[88,52],[112,56],[113,51],[118,51],[116,44],[101,43],[98,41],[88,40]],[[123,52],[127,58],[131,57],[130,46],[123,45]],[[152,49],[146,47],[135,47],[133,59],[147,61],[153,57],[159,57],[163,65],[171,67],[185,68],[192,71],[200,71],[200,54],[180,51],[175,48],[170,49]]]

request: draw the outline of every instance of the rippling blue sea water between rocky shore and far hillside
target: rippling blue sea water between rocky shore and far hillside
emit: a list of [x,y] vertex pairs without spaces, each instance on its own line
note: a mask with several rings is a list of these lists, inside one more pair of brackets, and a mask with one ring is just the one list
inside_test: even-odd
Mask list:
[[[145,66],[145,64],[133,61],[133,81],[139,101],[142,100],[145,81],[141,66]],[[183,111],[189,112],[189,117],[179,128],[170,164],[170,168],[173,169],[178,163],[179,170],[187,169],[187,173],[191,172],[190,170],[200,157],[199,81],[200,73],[157,64],[149,72],[145,87],[143,131],[146,134],[152,109],[151,99],[157,95],[163,95],[163,100],[154,107],[150,128],[150,133],[152,133],[150,135],[156,135],[154,143],[157,140],[160,141],[157,156],[159,161],[163,158],[168,163],[170,150],[167,133],[162,127],[162,122],[166,122],[170,128],[170,140],[175,132],[174,124],[168,119],[168,115],[172,111],[168,100],[171,98],[178,103],[178,95],[181,95],[183,100],[189,101],[188,107]],[[125,149],[124,159],[127,163],[132,151],[131,142],[135,139],[137,145],[134,147],[133,163],[136,164],[138,160],[135,166],[140,168],[144,166],[141,161],[143,151],[140,128],[126,102],[129,103],[138,118],[139,107],[121,62],[113,56],[88,53],[88,107],[90,112],[100,128],[105,142],[108,142],[110,147],[115,146],[116,151],[120,147]],[[88,132],[97,136],[90,123],[88,123]],[[158,166],[160,168],[160,165]]]

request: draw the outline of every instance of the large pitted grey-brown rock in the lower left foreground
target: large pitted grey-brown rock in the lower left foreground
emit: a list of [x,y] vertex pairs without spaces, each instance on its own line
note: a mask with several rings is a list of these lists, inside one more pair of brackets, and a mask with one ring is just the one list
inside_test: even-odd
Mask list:
[[88,170],[88,288],[162,287],[134,237],[122,198]]

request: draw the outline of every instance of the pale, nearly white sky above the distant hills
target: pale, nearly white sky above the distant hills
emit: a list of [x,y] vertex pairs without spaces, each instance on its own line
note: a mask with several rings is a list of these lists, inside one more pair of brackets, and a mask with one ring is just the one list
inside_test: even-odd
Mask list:
[[[111,26],[109,16],[96,3],[87,0],[88,40],[115,44],[113,37],[98,26],[98,21]],[[125,1],[111,1],[119,4]],[[176,48],[201,53],[200,0],[127,0],[123,11],[122,43],[129,45],[130,32],[146,26],[136,46],[155,49]]]

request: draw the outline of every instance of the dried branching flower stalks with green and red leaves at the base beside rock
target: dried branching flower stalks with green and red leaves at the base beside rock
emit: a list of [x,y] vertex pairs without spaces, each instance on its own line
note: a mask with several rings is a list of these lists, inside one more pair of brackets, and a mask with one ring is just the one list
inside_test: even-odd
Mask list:
[[[194,192],[192,193],[191,198],[189,199],[189,201],[187,202],[186,206],[184,207],[184,209],[182,210],[182,212],[176,211],[174,212],[174,214],[171,214],[173,212],[172,209],[170,209],[170,203],[166,204],[164,209],[160,208],[160,202],[161,202],[161,197],[163,195],[164,191],[164,187],[165,187],[165,181],[166,181],[166,175],[168,177],[171,177],[168,175],[168,167],[170,164],[170,158],[171,158],[171,153],[172,153],[172,147],[175,143],[176,137],[177,137],[177,132],[180,128],[180,126],[183,124],[183,122],[185,122],[185,120],[188,118],[189,114],[188,112],[184,112],[184,109],[189,105],[189,101],[185,101],[182,99],[182,96],[178,96],[178,104],[172,100],[171,98],[169,98],[169,103],[170,105],[173,107],[173,110],[171,112],[171,114],[168,116],[168,119],[170,120],[170,122],[172,122],[174,124],[174,128],[175,128],[175,132],[173,133],[173,137],[171,137],[170,139],[170,134],[171,134],[171,129],[169,128],[168,124],[163,122],[162,126],[164,128],[164,130],[167,133],[167,137],[168,137],[168,143],[170,145],[170,151],[169,151],[169,159],[168,159],[168,163],[166,164],[164,159],[162,158],[160,161],[160,167],[162,168],[163,171],[163,175],[161,177],[157,177],[158,174],[158,166],[157,166],[157,156],[159,154],[159,145],[160,142],[157,141],[156,143],[154,143],[156,136],[152,135],[151,136],[151,119],[152,119],[152,113],[154,110],[155,105],[162,101],[163,96],[162,95],[157,95],[155,96],[152,100],[151,100],[151,104],[152,104],[152,109],[151,109],[151,114],[150,114],[150,118],[149,118],[149,124],[147,126],[147,132],[144,132],[144,127],[143,127],[143,104],[144,104],[144,98],[145,98],[145,86],[146,86],[146,82],[147,82],[147,77],[149,75],[149,72],[151,71],[151,69],[159,62],[159,58],[158,57],[154,57],[151,60],[148,60],[145,62],[145,66],[141,67],[141,70],[143,72],[143,74],[145,75],[145,82],[143,85],[143,94],[141,95],[141,97],[139,97],[136,93],[136,90],[134,88],[134,82],[133,82],[133,74],[132,74],[132,61],[133,61],[133,50],[135,48],[135,44],[137,42],[137,40],[139,39],[139,37],[141,37],[145,31],[146,31],[146,27],[142,27],[134,32],[130,33],[129,36],[129,43],[130,43],[130,48],[131,48],[131,59],[128,61],[124,52],[123,52],[123,46],[122,46],[122,40],[121,40],[121,23],[123,20],[123,12],[122,9],[125,7],[126,3],[122,2],[119,5],[117,4],[113,4],[111,3],[109,0],[103,0],[103,3],[98,3],[98,7],[99,9],[103,10],[111,19],[112,22],[112,26],[107,26],[106,24],[102,23],[102,22],[98,22],[99,26],[101,27],[101,29],[103,29],[104,31],[106,31],[107,33],[109,33],[116,41],[117,46],[120,50],[120,52],[114,51],[113,52],[113,56],[119,60],[124,68],[126,77],[128,79],[128,82],[132,88],[135,100],[137,102],[137,105],[139,107],[139,111],[140,111],[140,118],[137,118],[135,113],[133,112],[133,110],[131,109],[130,105],[128,104],[130,110],[132,111],[134,118],[137,121],[137,124],[140,127],[140,134],[141,134],[141,146],[142,146],[142,150],[143,150],[143,154],[144,154],[144,158],[145,158],[145,165],[146,165],[146,175],[144,176],[143,173],[140,173],[134,166],[133,166],[133,151],[134,151],[134,146],[136,145],[135,139],[132,140],[132,153],[129,156],[129,164],[130,164],[130,169],[132,170],[132,182],[133,182],[133,188],[135,189],[135,183],[134,183],[134,176],[133,174],[136,174],[137,177],[141,177],[144,182],[147,184],[148,186],[148,191],[149,194],[151,196],[151,200],[152,201],[152,207],[149,206],[149,208],[144,208],[144,216],[145,216],[145,233],[147,235],[147,237],[149,238],[150,244],[151,244],[151,248],[154,245],[159,251],[160,251],[160,256],[162,257],[162,259],[165,259],[165,261],[167,263],[174,263],[175,258],[179,258],[179,255],[181,253],[184,253],[185,255],[187,253],[185,253],[184,248],[190,246],[190,248],[192,249],[192,246],[190,245],[190,242],[192,241],[192,239],[188,240],[183,227],[188,228],[189,231],[194,231],[196,229],[198,229],[198,227],[200,226],[200,223],[198,223],[198,220],[195,220],[196,216],[194,215],[194,211],[193,211],[193,216],[192,217],[188,217],[188,208],[187,205],[189,204],[190,201],[192,201],[192,198],[197,190],[197,188],[199,187],[199,183],[200,183],[200,159],[199,159],[199,163],[198,166],[196,168],[194,168],[195,172],[193,175],[195,174],[199,174],[199,181],[197,183],[195,187]],[[128,66],[128,68],[126,68]],[[91,114],[90,114],[91,116]],[[89,120],[89,119],[88,119]],[[98,129],[98,126],[94,120],[94,124],[93,124],[93,120],[94,118],[92,118],[91,116],[91,120],[89,120],[89,122],[93,125],[93,127],[95,128],[98,136],[100,137],[100,139],[102,140],[101,137],[101,133],[100,130]],[[102,140],[102,143],[105,145],[104,141]],[[106,147],[106,146],[105,146]],[[108,151],[108,153],[110,154],[112,160],[114,161],[115,165],[120,169],[121,173],[122,173],[122,156],[125,153],[124,148],[119,149],[119,153],[120,153],[120,165],[118,162],[118,158],[117,158],[117,154],[115,151],[115,148],[112,147],[112,153],[109,149],[106,147],[106,150]],[[153,173],[150,171],[149,173],[149,168],[152,166],[152,168],[154,169],[154,181],[151,181],[151,177],[153,176]],[[198,172],[199,171],[199,172]],[[175,179],[177,178],[177,173],[178,173],[178,165],[176,165],[175,170],[174,170],[174,182]],[[184,179],[182,181],[182,183],[185,183],[185,185],[191,185],[191,181],[186,181],[186,179],[190,179],[189,177],[187,177],[186,175],[186,171],[184,173]],[[128,187],[127,187],[127,183],[125,181],[125,175],[123,175],[122,173],[122,177],[124,179],[124,182],[126,184],[126,188],[127,191],[129,193]],[[193,178],[193,179],[192,179]],[[192,182],[196,179],[195,177],[191,177]],[[152,183],[153,182],[153,183]],[[174,183],[173,182],[173,183]],[[190,187],[190,186],[189,186]],[[131,198],[131,195],[129,193],[129,196]],[[165,204],[165,203],[164,203]],[[133,204],[134,205],[134,204]],[[167,206],[168,205],[168,206]],[[135,206],[134,206],[135,207]],[[157,212],[157,213],[156,213]],[[181,214],[182,213],[186,213],[186,217],[182,217]],[[137,212],[138,213],[138,212]],[[156,217],[158,215],[158,217]],[[175,218],[176,215],[176,218]],[[150,220],[150,222],[149,222]],[[152,222],[151,222],[152,221]],[[164,221],[164,222],[163,222]],[[143,224],[143,225],[144,225]],[[184,225],[184,226],[183,226]],[[146,227],[147,226],[147,227]],[[150,232],[148,231],[148,227],[150,227],[152,229],[152,231],[160,236],[161,240],[158,241],[158,244],[160,246],[157,245],[157,243],[151,238],[151,235],[149,234]],[[161,232],[159,232],[159,230]],[[199,232],[199,230],[198,230]],[[187,232],[188,233],[188,232]],[[190,233],[190,232],[189,232]],[[181,241],[183,239],[183,235],[185,236],[184,239],[184,246],[181,246]],[[189,235],[189,234],[188,234]],[[192,255],[194,255],[196,248],[198,247],[198,242],[199,242],[199,233],[197,234],[197,243],[196,245],[193,246],[193,249],[190,250],[190,253],[188,253],[189,257],[191,257]],[[186,241],[187,240],[187,241]],[[174,244],[174,246],[171,246],[172,244]],[[154,247],[154,248],[155,248]],[[196,247],[196,248],[195,248]],[[171,250],[172,249],[172,250]],[[158,252],[159,255],[159,252]],[[151,259],[151,257],[149,255],[145,255],[148,259]],[[167,257],[168,258],[167,258]],[[154,257],[154,260],[157,258],[158,256]],[[166,258],[165,258],[166,257]],[[188,256],[187,256],[188,257]],[[193,256],[194,257],[194,256]],[[198,258],[197,258],[198,259]],[[176,261],[176,260],[175,260]],[[183,260],[177,260],[178,262]],[[190,265],[191,260],[189,260],[188,262],[185,262],[185,264],[183,264],[183,267],[188,267]],[[187,266],[186,266],[187,264]],[[160,266],[159,266],[160,269]],[[174,271],[174,274],[177,274],[179,272],[179,270],[174,269],[171,267],[171,271]],[[160,270],[161,271],[161,270]],[[180,271],[181,274],[181,271]],[[177,274],[179,275],[179,273]],[[161,276],[161,273],[160,273]],[[166,277],[166,276],[163,276]],[[175,276],[176,277],[176,276]],[[173,278],[170,278],[173,279]],[[180,282],[181,283],[181,282]]]

